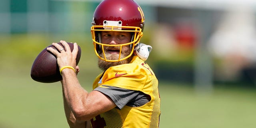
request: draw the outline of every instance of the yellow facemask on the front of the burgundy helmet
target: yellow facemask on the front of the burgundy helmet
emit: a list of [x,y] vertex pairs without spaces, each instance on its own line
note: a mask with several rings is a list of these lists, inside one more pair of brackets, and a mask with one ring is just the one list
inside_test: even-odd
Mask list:
[[[100,33],[103,31],[112,31],[112,32],[131,32],[132,38],[131,41],[125,44],[103,44],[101,42]],[[133,26],[122,26],[121,21],[106,21],[104,20],[102,26],[92,26],[91,27],[92,33],[92,40],[94,44],[94,51],[98,58],[107,62],[119,62],[125,60],[132,56],[134,52],[134,46],[138,44],[140,38],[143,36],[142,29],[140,27],[133,27]],[[127,56],[122,56],[122,48],[124,46],[129,46],[131,48],[130,54]],[[106,49],[108,48],[118,48],[119,49],[119,56],[116,59],[107,58],[106,56]],[[102,54],[102,56],[100,56]]]

